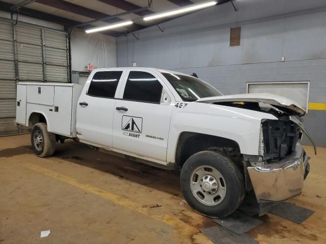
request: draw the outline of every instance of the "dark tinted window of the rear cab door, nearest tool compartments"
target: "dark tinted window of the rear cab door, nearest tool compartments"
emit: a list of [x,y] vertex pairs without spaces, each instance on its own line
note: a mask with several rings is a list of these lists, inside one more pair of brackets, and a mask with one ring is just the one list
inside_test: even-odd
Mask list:
[[99,71],[92,78],[87,95],[100,98],[114,98],[122,71]]

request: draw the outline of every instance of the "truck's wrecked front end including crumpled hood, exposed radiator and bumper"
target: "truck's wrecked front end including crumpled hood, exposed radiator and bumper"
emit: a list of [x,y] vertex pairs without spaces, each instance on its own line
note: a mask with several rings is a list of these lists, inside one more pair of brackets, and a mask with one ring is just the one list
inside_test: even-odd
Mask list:
[[253,110],[276,117],[261,121],[258,155],[242,154],[247,190],[242,205],[249,203],[252,210],[258,208],[256,214],[261,216],[271,205],[301,194],[309,173],[309,157],[300,144],[303,134],[311,140],[315,154],[316,146],[302,124],[301,116],[306,111],[299,104],[267,93],[201,98],[196,102]]

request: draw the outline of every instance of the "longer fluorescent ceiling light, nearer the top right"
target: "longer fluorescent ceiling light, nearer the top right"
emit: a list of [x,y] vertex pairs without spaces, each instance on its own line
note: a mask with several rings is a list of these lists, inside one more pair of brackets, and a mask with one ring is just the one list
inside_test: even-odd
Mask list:
[[203,8],[214,6],[216,3],[217,3],[217,1],[209,1],[209,2],[204,2],[204,3],[199,3],[199,4],[192,4],[192,5],[188,5],[186,7],[177,8],[177,9],[170,10],[170,11],[165,11],[165,12],[156,13],[156,14],[150,14],[150,15],[145,16],[144,20],[158,19],[158,18],[163,18],[163,17],[167,17],[167,16],[171,16],[171,15],[191,12],[191,11],[195,11],[198,9],[203,9]]

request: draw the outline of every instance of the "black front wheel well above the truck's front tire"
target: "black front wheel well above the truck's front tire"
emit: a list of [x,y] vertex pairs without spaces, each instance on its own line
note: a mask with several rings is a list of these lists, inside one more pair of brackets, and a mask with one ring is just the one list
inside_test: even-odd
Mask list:
[[182,132],[179,136],[175,162],[179,168],[182,168],[185,161],[192,155],[203,150],[219,150],[227,156],[239,160],[240,147],[235,141],[201,133]]

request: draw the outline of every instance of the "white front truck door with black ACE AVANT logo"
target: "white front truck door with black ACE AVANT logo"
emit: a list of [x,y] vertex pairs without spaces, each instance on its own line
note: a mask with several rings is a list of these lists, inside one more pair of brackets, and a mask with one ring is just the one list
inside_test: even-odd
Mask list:
[[115,104],[113,147],[166,161],[173,106],[162,102],[162,92],[169,100],[172,95],[152,71],[132,70],[126,77]]

